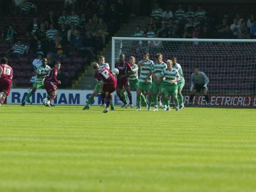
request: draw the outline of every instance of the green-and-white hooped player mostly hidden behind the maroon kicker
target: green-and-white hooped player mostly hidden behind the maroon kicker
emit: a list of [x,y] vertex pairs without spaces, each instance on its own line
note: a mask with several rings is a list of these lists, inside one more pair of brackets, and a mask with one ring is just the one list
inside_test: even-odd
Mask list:
[[[105,57],[104,56],[99,57],[99,68],[102,68],[102,67],[109,69],[108,63],[105,63]],[[93,93],[92,93],[91,97],[87,100],[86,105],[83,108],[84,110],[85,109],[90,109],[90,104],[92,103],[94,97],[96,97],[96,95],[98,95],[98,93],[100,93],[100,83],[99,83],[99,81],[95,85],[95,88],[93,90]],[[102,107],[106,107],[106,104],[105,104],[106,95],[105,94],[106,93],[101,93],[101,104],[100,104],[100,106],[102,106]],[[111,102],[111,110],[114,110],[113,102]]]

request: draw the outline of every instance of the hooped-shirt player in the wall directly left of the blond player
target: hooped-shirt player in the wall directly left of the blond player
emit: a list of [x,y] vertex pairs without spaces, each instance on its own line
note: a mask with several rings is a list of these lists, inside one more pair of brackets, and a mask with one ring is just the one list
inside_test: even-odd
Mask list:
[[164,70],[165,68],[166,68],[166,63],[163,62],[163,54],[157,53],[156,54],[156,63],[154,63],[151,68],[152,77],[154,79],[154,81],[153,81],[153,99],[154,99],[155,108],[153,109],[153,111],[158,111],[158,107],[157,107],[158,93],[160,95],[160,98],[163,97],[164,79],[160,78],[160,74],[161,74],[162,70]]

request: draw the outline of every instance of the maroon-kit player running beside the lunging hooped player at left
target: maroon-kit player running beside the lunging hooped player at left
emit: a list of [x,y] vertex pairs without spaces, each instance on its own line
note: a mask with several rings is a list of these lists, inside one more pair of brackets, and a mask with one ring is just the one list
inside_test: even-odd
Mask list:
[[49,74],[44,79],[44,88],[48,93],[48,96],[42,100],[42,103],[47,107],[51,106],[50,104],[52,100],[54,100],[54,98],[57,95],[56,84],[61,84],[61,82],[58,81],[57,79],[57,74],[58,74],[58,70],[60,70],[60,66],[61,66],[61,63],[56,62],[54,67],[50,70]]

